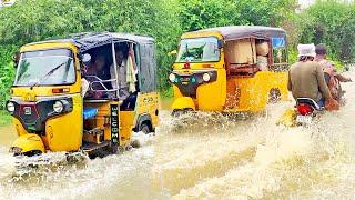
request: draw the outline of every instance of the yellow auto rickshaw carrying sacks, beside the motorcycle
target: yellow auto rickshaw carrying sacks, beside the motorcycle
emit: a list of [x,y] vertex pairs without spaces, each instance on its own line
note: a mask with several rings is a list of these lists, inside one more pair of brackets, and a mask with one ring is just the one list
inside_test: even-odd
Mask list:
[[173,113],[258,112],[287,99],[286,32],[270,27],[220,27],[182,34],[169,80]]

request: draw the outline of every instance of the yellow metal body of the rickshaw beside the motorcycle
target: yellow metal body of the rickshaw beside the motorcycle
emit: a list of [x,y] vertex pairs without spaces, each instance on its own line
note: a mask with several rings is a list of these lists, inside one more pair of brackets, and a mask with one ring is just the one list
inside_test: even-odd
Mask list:
[[[181,39],[204,37],[223,40],[216,31],[187,32]],[[217,62],[190,63],[191,69],[187,70],[184,63],[173,64],[173,72],[180,74],[212,69],[217,72],[216,81],[197,87],[195,98],[184,97],[174,84],[173,110],[195,108],[202,111],[258,112],[265,109],[272,90],[276,90],[282,100],[287,100],[287,72],[260,71],[253,77],[227,76],[223,48],[220,58]]]

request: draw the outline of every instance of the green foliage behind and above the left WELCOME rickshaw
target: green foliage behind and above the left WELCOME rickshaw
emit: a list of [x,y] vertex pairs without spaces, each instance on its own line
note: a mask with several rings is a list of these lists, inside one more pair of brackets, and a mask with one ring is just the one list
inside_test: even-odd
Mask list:
[[21,0],[0,10],[1,104],[13,79],[12,54],[23,44],[65,38],[88,31],[115,31],[152,36],[156,40],[159,82],[168,88],[168,73],[181,34],[175,1],[171,0]]

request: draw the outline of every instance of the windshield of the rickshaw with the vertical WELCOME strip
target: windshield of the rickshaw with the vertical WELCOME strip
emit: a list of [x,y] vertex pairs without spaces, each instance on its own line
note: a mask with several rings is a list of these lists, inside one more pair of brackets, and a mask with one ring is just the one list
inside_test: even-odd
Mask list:
[[75,82],[72,51],[53,49],[21,53],[14,86],[59,86]]

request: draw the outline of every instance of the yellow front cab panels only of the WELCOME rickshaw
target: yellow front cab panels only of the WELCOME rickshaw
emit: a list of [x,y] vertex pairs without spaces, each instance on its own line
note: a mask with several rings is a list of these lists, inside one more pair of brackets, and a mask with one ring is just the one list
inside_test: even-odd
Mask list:
[[[67,48],[73,51],[73,54],[78,53],[78,49],[72,43],[67,42],[48,42],[48,43],[36,43],[29,44],[21,48],[21,52]],[[73,99],[73,110],[70,113],[52,118],[45,121],[45,132],[41,137],[44,144],[44,149],[51,151],[75,151],[82,146],[82,109],[83,102],[80,94],[81,91],[81,74],[79,72],[79,60],[75,59],[75,83],[71,86],[48,86],[48,87],[13,87],[12,98],[20,98],[22,101],[36,102],[42,98],[70,96]],[[68,93],[53,93],[52,90],[55,88],[68,88]],[[27,132],[21,122],[17,119],[13,120],[16,130],[20,137],[32,136],[31,132]],[[19,147],[24,150],[29,150],[27,146],[31,146],[29,141],[21,142],[19,140],[13,143],[13,147]],[[42,151],[45,152],[45,151]]]

